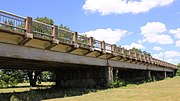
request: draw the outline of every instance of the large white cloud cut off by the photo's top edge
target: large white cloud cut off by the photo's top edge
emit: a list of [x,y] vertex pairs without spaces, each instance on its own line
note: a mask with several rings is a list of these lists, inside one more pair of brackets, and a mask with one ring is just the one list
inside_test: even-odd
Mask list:
[[174,0],[86,0],[83,9],[86,12],[98,12],[101,15],[111,13],[143,13],[149,10],[167,6],[173,3]]

